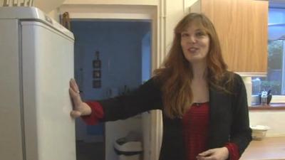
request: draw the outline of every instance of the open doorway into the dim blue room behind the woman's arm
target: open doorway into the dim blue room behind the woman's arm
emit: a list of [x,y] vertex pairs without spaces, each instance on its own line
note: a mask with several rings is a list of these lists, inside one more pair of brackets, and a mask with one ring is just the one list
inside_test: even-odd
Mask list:
[[[75,78],[83,100],[123,95],[150,78],[150,20],[73,19],[71,31],[76,38]],[[100,67],[94,60],[100,60]],[[130,131],[144,134],[142,121],[138,115],[87,126],[76,119],[77,160],[118,159],[113,143]]]

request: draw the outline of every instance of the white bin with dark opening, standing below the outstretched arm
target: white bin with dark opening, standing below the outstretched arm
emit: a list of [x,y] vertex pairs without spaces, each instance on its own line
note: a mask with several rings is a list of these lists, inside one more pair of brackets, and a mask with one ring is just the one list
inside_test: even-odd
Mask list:
[[128,138],[123,137],[115,141],[114,150],[118,154],[119,160],[140,160],[142,142],[129,141]]

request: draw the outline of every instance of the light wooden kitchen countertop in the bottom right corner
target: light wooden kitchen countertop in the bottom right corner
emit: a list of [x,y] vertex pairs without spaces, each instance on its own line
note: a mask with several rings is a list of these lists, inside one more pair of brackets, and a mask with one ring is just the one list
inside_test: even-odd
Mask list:
[[285,160],[285,137],[265,137],[253,140],[241,160]]

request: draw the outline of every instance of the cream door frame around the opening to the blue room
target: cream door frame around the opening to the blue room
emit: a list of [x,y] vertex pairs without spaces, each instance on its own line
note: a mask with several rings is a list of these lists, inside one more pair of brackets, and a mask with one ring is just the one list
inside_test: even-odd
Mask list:
[[[59,14],[68,12],[72,19],[150,20],[152,33],[151,70],[153,71],[160,67],[165,55],[165,17],[159,16],[163,12],[160,8],[150,5],[63,4],[58,11]],[[150,128],[150,160],[157,160],[162,142],[162,114],[158,110],[153,110],[150,114],[150,122],[152,123]]]

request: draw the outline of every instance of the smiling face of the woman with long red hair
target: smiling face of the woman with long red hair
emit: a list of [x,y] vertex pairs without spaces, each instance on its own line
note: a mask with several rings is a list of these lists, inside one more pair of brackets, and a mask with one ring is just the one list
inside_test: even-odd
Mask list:
[[189,25],[181,33],[181,47],[190,63],[206,60],[209,52],[209,36],[197,25]]

